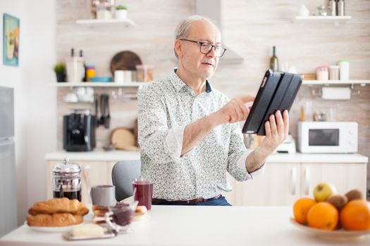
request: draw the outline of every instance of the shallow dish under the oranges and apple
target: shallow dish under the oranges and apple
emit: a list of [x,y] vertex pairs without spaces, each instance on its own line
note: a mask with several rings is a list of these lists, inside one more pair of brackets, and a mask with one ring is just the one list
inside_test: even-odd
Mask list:
[[345,231],[343,229],[335,230],[335,231],[320,230],[320,229],[316,229],[316,228],[312,228],[309,226],[304,226],[302,224],[299,224],[292,217],[290,218],[290,222],[294,226],[301,228],[303,231],[307,231],[308,233],[312,233],[318,236],[319,238],[325,238],[328,240],[336,240],[336,241],[361,240],[366,235],[370,235],[370,230],[368,231]]

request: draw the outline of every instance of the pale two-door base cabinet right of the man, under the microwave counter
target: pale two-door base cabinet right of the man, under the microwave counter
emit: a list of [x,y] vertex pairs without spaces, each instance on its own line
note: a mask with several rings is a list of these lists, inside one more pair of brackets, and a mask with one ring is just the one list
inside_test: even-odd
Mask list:
[[357,188],[366,194],[367,163],[267,163],[265,174],[238,182],[229,179],[234,194],[229,202],[240,206],[291,206],[300,197],[313,198],[317,183],[333,183],[338,193]]

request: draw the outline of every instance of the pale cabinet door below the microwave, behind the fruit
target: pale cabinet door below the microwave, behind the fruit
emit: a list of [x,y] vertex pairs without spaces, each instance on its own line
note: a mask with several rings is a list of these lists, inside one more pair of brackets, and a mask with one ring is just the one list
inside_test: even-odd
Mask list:
[[333,183],[338,193],[357,188],[366,194],[366,163],[314,163],[301,166],[301,196],[313,198],[317,183]]

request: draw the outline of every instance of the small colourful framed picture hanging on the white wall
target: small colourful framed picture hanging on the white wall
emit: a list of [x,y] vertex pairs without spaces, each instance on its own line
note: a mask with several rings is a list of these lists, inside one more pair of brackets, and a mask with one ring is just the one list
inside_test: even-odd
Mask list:
[[3,15],[3,64],[18,67],[19,62],[19,18]]

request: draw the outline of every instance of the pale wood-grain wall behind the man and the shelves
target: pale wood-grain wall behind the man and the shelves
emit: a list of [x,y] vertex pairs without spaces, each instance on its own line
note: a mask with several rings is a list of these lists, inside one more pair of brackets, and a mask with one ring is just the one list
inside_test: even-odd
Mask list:
[[[91,18],[90,1],[59,0],[56,2],[57,22]],[[56,53],[58,60],[69,56],[70,48],[82,48],[87,64],[97,67],[97,75],[109,76],[109,62],[115,53],[130,50],[137,53],[145,64],[155,66],[154,77],[164,77],[176,66],[173,56],[173,34],[177,23],[195,13],[195,1],[185,0],[127,0],[117,1],[128,6],[128,17],[134,27],[78,27],[58,25]],[[298,72],[314,72],[319,65],[337,63],[340,58],[350,59],[352,78],[370,79],[370,1],[346,1],[347,15],[353,20],[343,25],[293,25],[300,4],[310,11],[325,1],[223,1],[223,41],[245,58],[241,65],[225,65],[222,60],[213,86],[230,98],[257,92],[261,76],[269,67],[272,46],[277,47],[281,63],[289,63]],[[315,87],[319,91],[319,87]],[[101,89],[103,90],[103,89]],[[58,90],[58,119],[68,108],[92,108],[92,105],[68,105],[61,97],[68,89]],[[111,93],[112,89],[104,89]],[[357,92],[359,91],[359,95]],[[100,91],[101,92],[101,91]],[[350,101],[324,101],[312,96],[312,89],[304,86],[292,108],[291,132],[296,134],[300,107],[314,100],[314,110],[337,108],[337,119],[359,122],[359,153],[370,156],[370,90],[355,86]],[[112,129],[132,127],[137,103],[111,100]],[[58,141],[61,147],[61,120],[58,121]],[[98,145],[108,141],[111,129],[98,129]],[[370,182],[368,182],[370,183]]]

